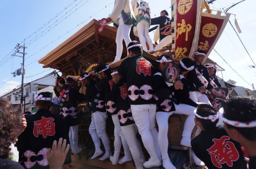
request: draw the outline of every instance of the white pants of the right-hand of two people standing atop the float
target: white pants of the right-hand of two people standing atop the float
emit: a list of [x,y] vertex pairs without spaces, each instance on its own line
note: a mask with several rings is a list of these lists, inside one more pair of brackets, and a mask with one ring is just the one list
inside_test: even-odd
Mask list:
[[142,45],[143,50],[148,51],[146,45],[147,42],[149,46],[149,51],[154,51],[152,40],[148,35],[148,29],[149,23],[145,19],[140,20],[140,22],[137,24],[138,37],[140,38],[140,43]]

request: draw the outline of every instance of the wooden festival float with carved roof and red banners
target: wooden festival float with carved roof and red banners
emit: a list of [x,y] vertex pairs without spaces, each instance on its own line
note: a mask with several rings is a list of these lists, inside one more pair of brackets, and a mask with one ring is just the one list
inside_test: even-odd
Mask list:
[[[211,10],[205,0],[171,0],[171,8],[172,41],[153,53],[143,51],[143,56],[155,65],[157,56],[165,53],[172,56],[173,61],[178,63],[183,58],[193,59],[194,52],[200,49],[206,52],[204,63],[217,65],[208,56],[221,36],[230,14]],[[116,55],[116,30],[116,27],[105,24],[102,28],[102,22],[93,19],[38,62],[44,65],[43,68],[59,70],[63,77],[75,78],[78,78],[82,72],[95,75],[93,67],[100,62],[110,64],[111,69],[117,68],[127,56],[127,50],[123,48],[120,61],[111,63]],[[125,46],[124,42],[123,46]],[[221,70],[224,69],[217,65],[217,71]],[[80,91],[84,92],[84,89]],[[90,160],[94,152],[94,144],[88,132],[91,114],[86,105],[87,103],[79,105],[79,111],[83,113],[79,125],[79,144],[83,147],[83,151],[72,155],[71,169],[135,169],[133,162],[113,166],[109,160]],[[168,132],[170,149],[189,152],[188,148],[180,146],[185,120],[186,115],[170,116]],[[107,120],[106,129],[113,150],[114,136],[111,118]],[[197,133],[197,128],[194,129],[192,136]],[[147,157],[146,152],[145,156]],[[189,158],[185,163],[186,166],[189,165]]]

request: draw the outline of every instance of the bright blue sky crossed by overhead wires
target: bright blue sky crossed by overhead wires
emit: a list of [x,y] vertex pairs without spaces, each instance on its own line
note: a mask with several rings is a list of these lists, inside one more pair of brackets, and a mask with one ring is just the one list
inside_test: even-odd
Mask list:
[[[26,39],[26,74],[24,82],[31,82],[52,71],[42,68],[38,60],[55,47],[72,36],[93,18],[99,20],[108,17],[113,9],[114,0],[1,0],[0,2],[0,94],[14,89],[21,83],[21,76],[13,77],[11,72],[20,68],[22,59],[11,58],[9,53],[16,43]],[[234,0],[216,0],[210,4],[213,9],[231,5]],[[171,13],[170,0],[148,0],[152,16],[160,16],[160,11],[166,9]],[[250,56],[256,62],[256,3],[245,0],[231,8],[230,13],[236,14],[242,33],[239,34]],[[98,12],[98,13],[97,13]],[[66,14],[67,13],[67,14]],[[234,16],[231,15],[232,24]],[[49,31],[48,31],[49,30]],[[30,36],[30,37],[29,37]],[[37,36],[37,37],[35,37]],[[152,35],[151,35],[152,37]],[[23,43],[22,43],[23,44]],[[250,85],[256,85],[256,68],[250,68],[253,62],[236,37],[228,23],[215,50],[241,75]],[[224,80],[232,79],[236,85],[252,89],[244,82],[214,51],[209,56],[226,71],[222,72]],[[7,61],[7,59],[9,59]],[[218,73],[222,77],[221,73]]]

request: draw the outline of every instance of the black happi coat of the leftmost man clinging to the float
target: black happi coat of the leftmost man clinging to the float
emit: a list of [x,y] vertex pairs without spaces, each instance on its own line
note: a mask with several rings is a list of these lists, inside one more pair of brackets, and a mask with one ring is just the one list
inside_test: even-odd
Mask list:
[[[61,106],[61,115],[65,118],[68,126],[75,126],[79,123],[77,121],[77,102],[81,102],[84,100],[84,94],[79,93],[75,88],[70,87],[69,85],[65,84],[61,87],[60,90],[60,101],[63,99],[63,105]],[[63,98],[64,94],[66,93],[66,98]]]

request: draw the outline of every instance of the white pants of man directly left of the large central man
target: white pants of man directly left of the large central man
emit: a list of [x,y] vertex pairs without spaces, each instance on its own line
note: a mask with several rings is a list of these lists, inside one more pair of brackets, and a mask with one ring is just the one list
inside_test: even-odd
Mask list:
[[136,169],[143,169],[142,157],[144,158],[144,155],[140,141],[136,137],[138,132],[136,124],[121,126],[121,129],[123,135],[125,136],[129,149],[131,150],[131,155],[134,159]]

